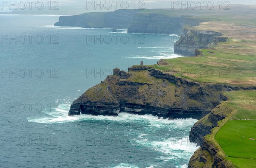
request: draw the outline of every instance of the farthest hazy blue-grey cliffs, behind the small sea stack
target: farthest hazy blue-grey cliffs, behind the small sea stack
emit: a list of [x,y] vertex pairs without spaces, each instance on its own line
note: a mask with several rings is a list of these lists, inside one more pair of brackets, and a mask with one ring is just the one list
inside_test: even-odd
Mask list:
[[189,16],[171,17],[165,14],[143,14],[140,10],[93,12],[74,16],[61,16],[56,26],[82,28],[128,28],[129,33],[183,34],[183,25],[195,26],[205,20]]

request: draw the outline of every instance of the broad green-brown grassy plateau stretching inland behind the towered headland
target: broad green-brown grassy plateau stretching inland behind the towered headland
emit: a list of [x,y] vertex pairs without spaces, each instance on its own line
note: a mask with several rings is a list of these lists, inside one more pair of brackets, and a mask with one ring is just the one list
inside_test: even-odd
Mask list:
[[195,57],[166,59],[164,64],[156,68],[199,82],[255,85],[255,26],[255,20],[250,22],[250,25],[202,22],[190,29],[220,32],[228,38],[227,42],[212,44],[207,49],[201,49],[201,54]]

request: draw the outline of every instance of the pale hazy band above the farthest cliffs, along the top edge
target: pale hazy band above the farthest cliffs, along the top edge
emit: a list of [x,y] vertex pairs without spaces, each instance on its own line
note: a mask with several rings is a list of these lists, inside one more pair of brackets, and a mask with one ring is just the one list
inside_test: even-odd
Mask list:
[[[1,14],[56,14],[71,15],[95,11],[140,8],[195,8],[256,5],[255,0],[0,0]],[[11,3],[10,3],[11,2]],[[42,3],[41,3],[42,2]],[[43,5],[43,8],[41,6]],[[30,8],[31,7],[31,8]]]

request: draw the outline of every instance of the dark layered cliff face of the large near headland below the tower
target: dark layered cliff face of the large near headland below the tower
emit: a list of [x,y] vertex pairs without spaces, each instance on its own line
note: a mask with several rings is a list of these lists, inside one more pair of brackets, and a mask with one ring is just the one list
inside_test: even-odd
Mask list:
[[[148,69],[148,70],[146,70]],[[119,112],[152,114],[163,118],[202,118],[225,97],[227,88],[201,85],[136,66],[108,76],[71,104],[69,115],[118,115]]]

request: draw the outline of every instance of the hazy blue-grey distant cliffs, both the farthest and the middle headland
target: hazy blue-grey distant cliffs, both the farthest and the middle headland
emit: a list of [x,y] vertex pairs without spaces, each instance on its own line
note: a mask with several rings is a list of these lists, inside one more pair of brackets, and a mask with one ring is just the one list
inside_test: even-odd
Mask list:
[[[168,14],[142,13],[141,10],[116,10],[113,12],[92,12],[74,16],[61,16],[55,26],[82,28],[127,28],[128,33],[178,34],[175,53],[195,56],[195,50],[220,42],[221,34],[212,31],[188,31],[188,27],[206,22],[190,15],[170,16]],[[195,37],[197,36],[197,37]],[[192,38],[196,38],[193,40]],[[196,43],[196,44],[195,44]]]

